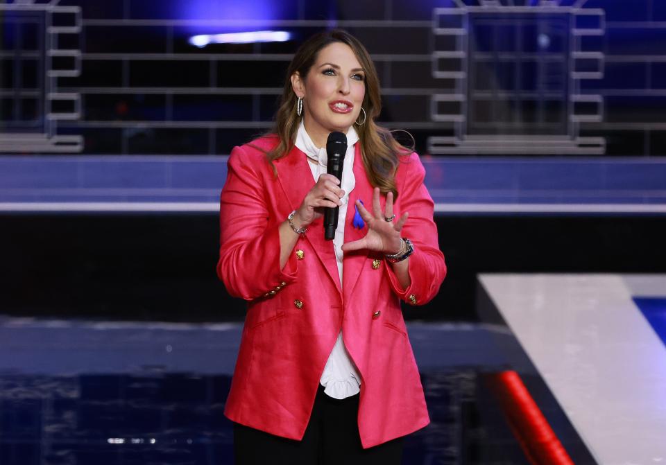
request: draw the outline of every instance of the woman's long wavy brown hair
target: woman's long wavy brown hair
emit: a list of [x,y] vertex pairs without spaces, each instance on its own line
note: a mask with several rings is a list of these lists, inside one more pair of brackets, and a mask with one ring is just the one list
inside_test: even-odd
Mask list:
[[395,170],[398,169],[400,156],[409,155],[411,150],[402,146],[393,139],[393,135],[375,123],[375,118],[382,111],[382,97],[379,91],[379,77],[373,60],[366,48],[356,37],[344,30],[327,30],[309,37],[296,51],[289,69],[287,78],[284,80],[282,98],[278,112],[275,114],[275,126],[273,133],[278,135],[280,142],[273,150],[267,152],[268,161],[284,157],[293,148],[296,140],[296,132],[300,125],[302,116],[296,115],[296,103],[298,98],[291,87],[291,76],[298,73],[305,79],[310,68],[316,61],[321,49],[334,42],[342,42],[354,51],[357,60],[365,72],[366,95],[361,105],[366,112],[366,120],[361,125],[355,125],[359,134],[361,144],[361,159],[363,160],[366,174],[373,187],[379,187],[382,193],[393,192],[398,197],[395,186]]

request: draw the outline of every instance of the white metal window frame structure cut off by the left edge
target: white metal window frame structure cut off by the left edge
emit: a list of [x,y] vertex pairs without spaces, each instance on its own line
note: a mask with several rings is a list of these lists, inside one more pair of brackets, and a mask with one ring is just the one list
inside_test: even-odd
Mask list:
[[[80,75],[78,36],[82,25],[80,7],[59,6],[59,1],[0,1],[3,22],[12,24],[17,37],[11,50],[0,46],[0,60],[14,81],[11,88],[3,87],[0,82],[0,98],[15,110],[10,118],[3,117],[4,124],[0,124],[0,153],[72,153],[83,150],[82,136],[58,134],[58,121],[78,120],[81,115],[78,92],[59,92],[57,80]],[[37,28],[26,30],[26,24]],[[26,37],[30,33],[33,36]],[[24,49],[22,42],[26,39],[34,40],[35,46]],[[78,46],[72,48],[71,44]],[[29,81],[22,75],[26,63],[34,65],[35,76],[31,76]],[[37,107],[36,117],[30,121],[22,119],[26,102]]]

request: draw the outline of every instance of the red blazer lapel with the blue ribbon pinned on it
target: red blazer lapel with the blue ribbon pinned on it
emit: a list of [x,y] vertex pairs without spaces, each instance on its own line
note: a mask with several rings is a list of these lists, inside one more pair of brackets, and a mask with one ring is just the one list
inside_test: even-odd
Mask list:
[[[366,175],[366,168],[363,166],[361,159],[361,144],[356,144],[356,152],[354,154],[354,177],[356,179],[356,186],[349,195],[349,203],[347,206],[347,219],[345,220],[345,244],[354,240],[362,239],[368,234],[368,225],[364,225],[361,229],[357,229],[353,225],[354,215],[356,213],[355,204],[356,200],[360,199],[364,203],[364,207],[368,211],[372,211],[373,202],[373,187],[370,185],[370,180]],[[343,274],[342,274],[342,289],[343,299],[348,301],[349,296],[354,290],[354,286],[359,281],[359,274],[363,270],[364,263],[368,258],[368,250],[361,249],[354,252],[345,252],[343,259]]]

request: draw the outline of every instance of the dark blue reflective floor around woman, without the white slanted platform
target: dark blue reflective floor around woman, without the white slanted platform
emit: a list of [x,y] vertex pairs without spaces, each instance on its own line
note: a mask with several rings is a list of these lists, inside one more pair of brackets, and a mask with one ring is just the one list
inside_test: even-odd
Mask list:
[[[230,464],[237,324],[0,321],[0,464]],[[518,369],[577,464],[594,463],[502,326],[410,324],[432,423],[403,464],[528,464],[488,389]],[[502,343],[506,342],[506,344]],[[516,352],[520,352],[517,349]],[[510,353],[510,352],[509,352]]]

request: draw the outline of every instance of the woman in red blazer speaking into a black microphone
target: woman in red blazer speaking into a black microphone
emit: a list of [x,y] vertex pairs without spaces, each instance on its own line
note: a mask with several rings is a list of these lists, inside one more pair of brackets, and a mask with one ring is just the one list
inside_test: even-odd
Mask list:
[[[446,267],[425,170],[380,110],[364,46],[320,33],[291,61],[274,133],[232,150],[217,272],[248,301],[225,406],[237,463],[400,464],[429,423],[400,299],[425,304]],[[341,179],[331,132],[347,137]]]

